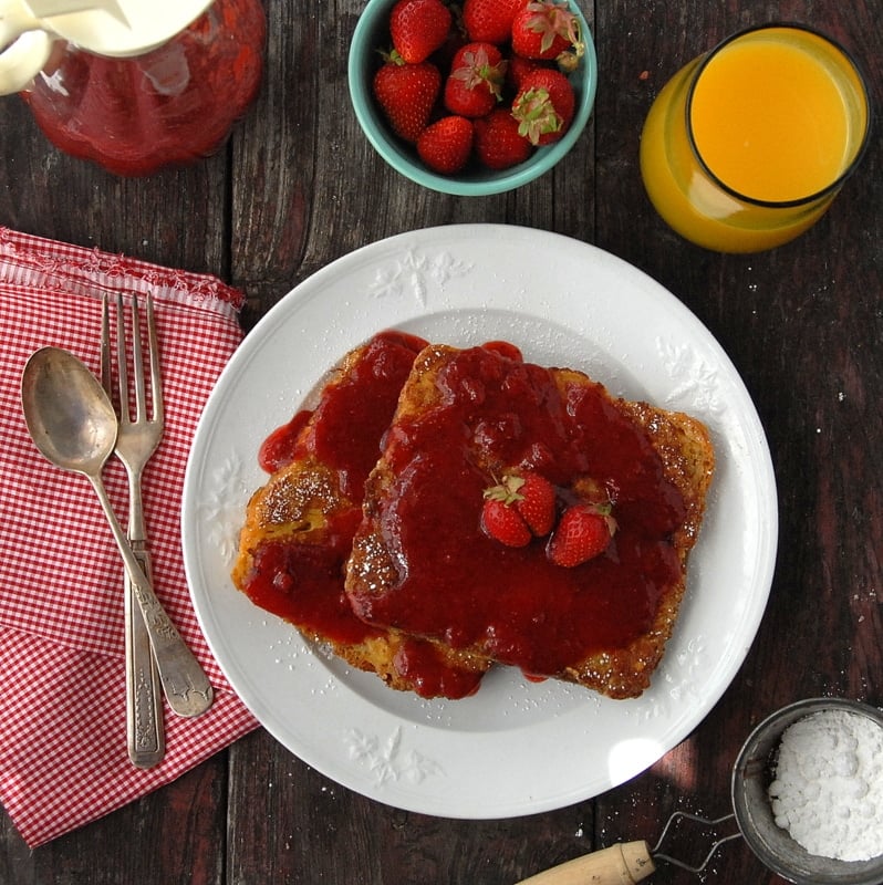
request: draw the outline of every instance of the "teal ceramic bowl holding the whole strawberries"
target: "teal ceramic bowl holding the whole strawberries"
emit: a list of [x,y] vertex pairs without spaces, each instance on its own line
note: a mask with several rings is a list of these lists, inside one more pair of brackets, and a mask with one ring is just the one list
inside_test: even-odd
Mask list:
[[469,169],[454,176],[438,175],[427,169],[414,146],[403,142],[389,129],[372,95],[371,82],[380,64],[377,50],[389,46],[388,21],[395,0],[368,0],[353,32],[347,71],[350,96],[359,124],[368,142],[394,169],[432,190],[464,197],[484,197],[512,190],[539,178],[573,147],[589,122],[598,88],[594,43],[582,11],[573,0],[570,0],[570,6],[580,18],[585,54],[576,72],[571,74],[576,110],[568,132],[560,140],[537,148],[528,160],[518,166],[501,171]]

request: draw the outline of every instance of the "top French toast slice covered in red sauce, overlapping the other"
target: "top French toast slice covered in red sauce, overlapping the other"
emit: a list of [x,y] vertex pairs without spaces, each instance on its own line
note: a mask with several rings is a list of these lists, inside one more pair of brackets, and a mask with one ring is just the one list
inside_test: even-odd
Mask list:
[[[636,697],[675,625],[714,467],[707,429],[687,415],[509,345],[429,345],[365,483],[347,596],[374,626]],[[489,537],[484,491],[512,471],[546,477],[559,510],[603,496],[617,527],[603,554],[563,568],[546,538]]]

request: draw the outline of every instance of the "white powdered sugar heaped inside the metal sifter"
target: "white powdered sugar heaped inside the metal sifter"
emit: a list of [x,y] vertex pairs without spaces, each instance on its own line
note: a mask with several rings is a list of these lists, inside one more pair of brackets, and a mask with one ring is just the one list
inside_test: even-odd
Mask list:
[[810,854],[883,854],[883,728],[846,710],[798,720],[782,735],[769,795],[776,823]]

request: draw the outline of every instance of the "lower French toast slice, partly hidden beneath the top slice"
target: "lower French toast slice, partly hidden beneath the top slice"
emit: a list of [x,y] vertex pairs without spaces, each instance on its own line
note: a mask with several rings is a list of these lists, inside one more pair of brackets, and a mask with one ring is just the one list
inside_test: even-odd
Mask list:
[[256,605],[392,688],[457,698],[478,687],[488,662],[370,626],[344,593],[364,482],[425,344],[398,333],[376,335],[344,357],[314,409],[264,442],[261,462],[272,472],[247,506],[232,579]]

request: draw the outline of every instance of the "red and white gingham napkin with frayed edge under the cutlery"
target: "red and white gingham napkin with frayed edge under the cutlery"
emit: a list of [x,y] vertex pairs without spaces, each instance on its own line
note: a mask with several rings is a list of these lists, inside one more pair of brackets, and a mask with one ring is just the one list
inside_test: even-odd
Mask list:
[[[21,373],[48,344],[97,373],[101,294],[154,299],[166,431],[144,473],[155,590],[215,686],[211,709],[166,706],[166,756],[142,771],[125,735],[123,566],[90,483],[38,452]],[[208,394],[241,340],[241,294],[214,277],[0,228],[0,802],[39,845],[174,780],[256,727],[199,631],[184,574],[180,496]],[[127,483],[104,473],[123,525]]]

